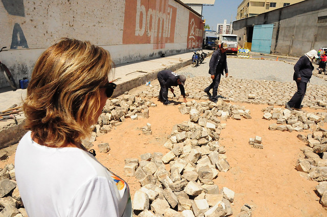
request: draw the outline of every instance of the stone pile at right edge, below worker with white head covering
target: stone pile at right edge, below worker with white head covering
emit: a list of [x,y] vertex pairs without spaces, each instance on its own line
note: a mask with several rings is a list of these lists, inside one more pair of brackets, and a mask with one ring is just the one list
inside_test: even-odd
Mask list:
[[276,120],[276,124],[269,125],[270,130],[309,130],[307,135],[297,135],[307,147],[301,149],[304,156],[297,160],[295,168],[301,176],[319,182],[315,187],[316,194],[321,205],[327,207],[327,130],[322,128],[327,122],[327,112],[310,113],[273,107],[267,107],[263,112],[264,119]]

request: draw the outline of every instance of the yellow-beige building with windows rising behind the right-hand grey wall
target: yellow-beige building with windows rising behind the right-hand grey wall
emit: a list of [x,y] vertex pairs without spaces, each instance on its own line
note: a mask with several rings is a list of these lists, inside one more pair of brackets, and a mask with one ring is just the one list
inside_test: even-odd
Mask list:
[[237,8],[236,19],[255,16],[303,1],[305,0],[244,0]]

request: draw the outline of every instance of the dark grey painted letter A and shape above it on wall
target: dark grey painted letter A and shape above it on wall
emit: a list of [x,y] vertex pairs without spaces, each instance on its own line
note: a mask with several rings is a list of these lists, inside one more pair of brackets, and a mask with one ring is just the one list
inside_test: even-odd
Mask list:
[[[13,16],[21,16],[25,17],[25,8],[24,8],[24,0],[1,0],[4,8],[8,12],[8,14]],[[17,48],[28,48],[28,44],[22,31],[20,25],[15,23],[12,37],[11,37],[11,45],[10,49]]]

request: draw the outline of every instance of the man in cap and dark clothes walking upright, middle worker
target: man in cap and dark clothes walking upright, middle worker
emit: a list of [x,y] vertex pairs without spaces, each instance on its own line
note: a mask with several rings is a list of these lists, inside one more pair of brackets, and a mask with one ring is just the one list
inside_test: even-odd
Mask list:
[[[209,99],[211,99],[211,101],[215,103],[218,100],[217,91],[221,75],[224,75],[224,70],[226,78],[228,77],[226,49],[227,44],[224,42],[221,43],[219,49],[214,51],[209,62],[209,74],[211,75],[211,79],[213,80],[213,82],[207,88],[204,89],[204,92],[206,92]],[[211,95],[210,93],[211,89],[213,89],[213,95]]]

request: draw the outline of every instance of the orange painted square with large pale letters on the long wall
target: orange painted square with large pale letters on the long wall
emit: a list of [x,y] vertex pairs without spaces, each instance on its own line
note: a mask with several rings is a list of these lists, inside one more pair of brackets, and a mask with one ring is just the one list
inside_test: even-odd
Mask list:
[[174,43],[177,9],[169,0],[129,0],[125,2],[123,44],[153,44],[164,49]]

